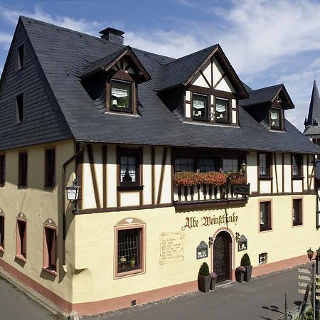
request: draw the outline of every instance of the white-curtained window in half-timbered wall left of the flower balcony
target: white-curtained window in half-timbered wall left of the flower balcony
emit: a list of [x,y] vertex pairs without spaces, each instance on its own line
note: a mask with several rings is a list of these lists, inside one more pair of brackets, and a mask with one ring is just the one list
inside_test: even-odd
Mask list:
[[122,153],[119,155],[119,181],[120,186],[132,186],[140,184],[139,178],[139,154]]

